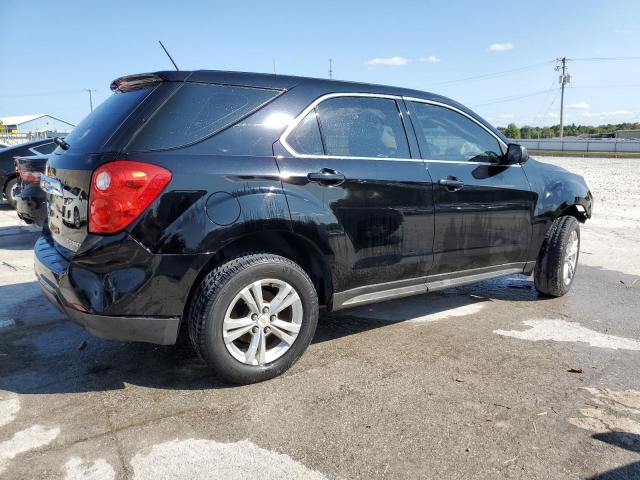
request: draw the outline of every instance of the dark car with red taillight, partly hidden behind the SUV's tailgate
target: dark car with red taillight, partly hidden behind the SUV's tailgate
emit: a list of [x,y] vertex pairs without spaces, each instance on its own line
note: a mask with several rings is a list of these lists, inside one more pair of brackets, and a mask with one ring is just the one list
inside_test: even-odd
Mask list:
[[16,157],[16,184],[11,196],[16,202],[18,217],[26,223],[42,226],[47,220],[47,195],[40,188],[48,155]]

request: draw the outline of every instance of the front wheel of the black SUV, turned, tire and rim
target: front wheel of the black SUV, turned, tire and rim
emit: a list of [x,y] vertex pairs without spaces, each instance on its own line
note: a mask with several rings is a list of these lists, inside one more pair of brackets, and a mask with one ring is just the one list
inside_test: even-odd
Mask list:
[[579,254],[578,220],[569,216],[556,219],[547,232],[534,270],[538,292],[551,297],[566,294],[575,279]]

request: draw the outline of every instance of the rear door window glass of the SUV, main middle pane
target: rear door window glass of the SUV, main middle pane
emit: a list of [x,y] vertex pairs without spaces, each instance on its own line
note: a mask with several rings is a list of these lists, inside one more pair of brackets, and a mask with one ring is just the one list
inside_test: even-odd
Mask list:
[[409,145],[395,100],[336,97],[318,107],[325,151],[331,156],[409,158]]

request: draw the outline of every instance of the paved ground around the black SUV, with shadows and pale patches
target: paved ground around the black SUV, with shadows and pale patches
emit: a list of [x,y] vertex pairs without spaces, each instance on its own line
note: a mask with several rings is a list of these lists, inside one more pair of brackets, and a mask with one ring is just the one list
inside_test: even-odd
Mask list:
[[0,478],[640,478],[640,160],[544,161],[596,198],[568,295],[515,275],[323,314],[243,387],[65,320],[0,205]]

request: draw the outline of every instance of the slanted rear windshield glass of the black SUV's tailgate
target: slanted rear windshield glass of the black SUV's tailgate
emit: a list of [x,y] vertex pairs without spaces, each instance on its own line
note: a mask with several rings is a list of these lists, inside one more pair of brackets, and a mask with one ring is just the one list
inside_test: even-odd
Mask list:
[[74,153],[100,152],[109,137],[152,90],[146,87],[112,94],[65,137],[65,142]]

